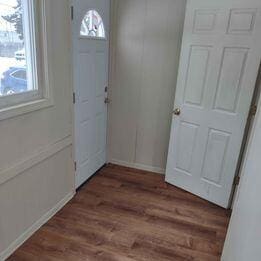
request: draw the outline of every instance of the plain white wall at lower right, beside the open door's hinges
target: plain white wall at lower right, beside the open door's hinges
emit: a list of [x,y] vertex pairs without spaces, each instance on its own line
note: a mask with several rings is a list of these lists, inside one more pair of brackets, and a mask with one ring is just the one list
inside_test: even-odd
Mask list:
[[223,261],[261,260],[261,103],[253,126]]

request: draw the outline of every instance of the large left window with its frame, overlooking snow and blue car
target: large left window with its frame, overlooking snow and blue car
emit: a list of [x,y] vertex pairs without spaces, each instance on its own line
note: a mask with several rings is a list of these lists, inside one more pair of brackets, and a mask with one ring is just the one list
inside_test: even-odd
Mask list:
[[0,114],[47,98],[44,2],[0,0]]

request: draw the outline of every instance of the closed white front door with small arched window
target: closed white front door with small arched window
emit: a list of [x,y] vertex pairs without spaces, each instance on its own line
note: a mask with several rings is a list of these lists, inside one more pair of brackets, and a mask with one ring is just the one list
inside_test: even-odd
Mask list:
[[106,163],[109,0],[72,1],[76,187]]

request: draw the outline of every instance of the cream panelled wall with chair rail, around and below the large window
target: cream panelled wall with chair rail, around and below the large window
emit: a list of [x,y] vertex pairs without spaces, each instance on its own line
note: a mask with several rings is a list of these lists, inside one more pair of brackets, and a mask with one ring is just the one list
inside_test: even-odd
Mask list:
[[69,8],[50,3],[54,106],[0,121],[0,260],[74,193]]

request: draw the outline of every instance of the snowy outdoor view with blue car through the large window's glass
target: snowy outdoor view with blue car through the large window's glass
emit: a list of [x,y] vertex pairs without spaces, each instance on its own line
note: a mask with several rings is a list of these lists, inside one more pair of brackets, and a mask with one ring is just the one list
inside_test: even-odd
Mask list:
[[0,96],[29,91],[24,0],[0,0]]

